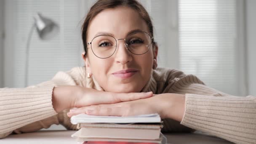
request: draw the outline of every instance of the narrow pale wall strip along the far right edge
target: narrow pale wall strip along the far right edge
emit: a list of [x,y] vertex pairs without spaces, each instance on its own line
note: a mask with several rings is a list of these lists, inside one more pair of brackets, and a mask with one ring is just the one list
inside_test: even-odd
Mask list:
[[246,1],[246,43],[248,54],[248,94],[256,96],[256,0]]

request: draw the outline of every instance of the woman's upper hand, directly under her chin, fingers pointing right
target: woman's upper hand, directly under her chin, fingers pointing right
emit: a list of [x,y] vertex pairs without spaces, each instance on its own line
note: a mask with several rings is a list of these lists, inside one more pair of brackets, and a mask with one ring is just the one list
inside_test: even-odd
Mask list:
[[53,89],[53,108],[60,112],[72,107],[87,107],[97,104],[115,104],[153,96],[149,93],[112,93],[80,86],[60,86]]

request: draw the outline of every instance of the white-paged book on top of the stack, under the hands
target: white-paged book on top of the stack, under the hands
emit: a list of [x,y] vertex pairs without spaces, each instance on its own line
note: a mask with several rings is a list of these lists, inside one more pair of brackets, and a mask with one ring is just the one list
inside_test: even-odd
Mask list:
[[80,114],[71,117],[71,123],[161,123],[161,118],[158,114],[136,115],[128,117],[116,116],[93,116]]

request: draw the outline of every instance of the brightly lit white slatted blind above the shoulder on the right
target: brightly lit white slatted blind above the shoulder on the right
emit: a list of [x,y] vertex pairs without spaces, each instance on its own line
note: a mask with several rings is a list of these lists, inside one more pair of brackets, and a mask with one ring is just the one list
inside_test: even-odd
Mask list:
[[179,0],[180,69],[229,94],[239,93],[236,1]]

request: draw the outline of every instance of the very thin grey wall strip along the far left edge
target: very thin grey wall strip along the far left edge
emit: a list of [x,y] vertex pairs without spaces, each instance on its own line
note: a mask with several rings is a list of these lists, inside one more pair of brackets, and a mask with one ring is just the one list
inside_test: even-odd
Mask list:
[[4,0],[0,0],[0,88],[3,87]]

